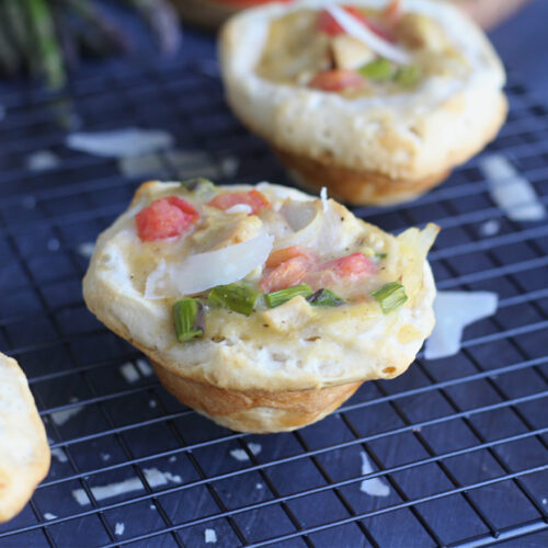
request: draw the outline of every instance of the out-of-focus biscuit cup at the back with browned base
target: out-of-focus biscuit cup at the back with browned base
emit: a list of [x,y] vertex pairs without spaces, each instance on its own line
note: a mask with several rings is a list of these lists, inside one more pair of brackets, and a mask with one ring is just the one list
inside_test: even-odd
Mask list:
[[[220,36],[229,105],[271,145],[297,184],[326,186],[330,195],[354,205],[407,202],[439,184],[495,137],[507,112],[504,69],[483,32],[447,2],[401,2],[402,20],[418,18],[407,20],[416,23],[413,32],[423,24],[431,28],[420,35],[420,47],[403,50],[415,64],[408,68],[422,71],[413,85],[364,76],[356,89],[338,88],[336,81],[321,88],[306,75],[351,72],[359,80],[366,65],[326,69],[319,54],[312,57],[317,65],[305,64],[297,75],[290,68],[286,75],[284,65],[271,59],[284,55],[288,67],[301,67],[308,57],[296,56],[312,41],[328,60],[334,56],[329,39],[335,38],[322,35],[315,23],[328,4],[304,0],[247,10],[231,18]],[[356,0],[353,8],[387,4]],[[286,19],[292,16],[302,19]],[[299,34],[292,24],[305,28],[310,39],[296,42]],[[290,47],[284,49],[284,43]],[[379,55],[377,60],[388,62]],[[400,69],[392,65],[392,75]]]

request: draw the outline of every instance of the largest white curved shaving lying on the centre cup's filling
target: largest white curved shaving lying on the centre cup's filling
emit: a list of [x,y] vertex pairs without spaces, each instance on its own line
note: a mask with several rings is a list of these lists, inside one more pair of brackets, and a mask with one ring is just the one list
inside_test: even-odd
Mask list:
[[261,235],[235,246],[191,255],[179,263],[161,261],[147,279],[145,298],[193,295],[238,282],[264,264],[273,242],[272,236]]

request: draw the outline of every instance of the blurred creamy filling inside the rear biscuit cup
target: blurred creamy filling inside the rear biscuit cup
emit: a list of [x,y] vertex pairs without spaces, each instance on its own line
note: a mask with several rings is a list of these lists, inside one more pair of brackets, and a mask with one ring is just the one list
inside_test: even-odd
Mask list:
[[[347,98],[406,93],[431,77],[463,79],[470,73],[468,61],[434,19],[350,10],[345,20],[350,18],[355,31],[365,28],[383,48],[361,41],[352,27],[341,28],[330,11],[296,10],[270,24],[255,73],[272,82]],[[392,50],[400,55],[389,55]]]

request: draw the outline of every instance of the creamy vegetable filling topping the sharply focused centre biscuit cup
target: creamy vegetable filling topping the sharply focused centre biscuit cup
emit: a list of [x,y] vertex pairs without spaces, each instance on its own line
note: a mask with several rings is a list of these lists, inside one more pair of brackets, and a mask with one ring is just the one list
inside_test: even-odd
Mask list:
[[[395,238],[326,196],[302,199],[302,195],[276,195],[275,187],[261,190],[264,192],[238,187],[235,193],[212,185],[204,193],[167,185],[155,199],[141,199],[139,209],[126,214],[99,261],[109,269],[113,256],[121,253],[133,289],[170,311],[181,300],[195,301],[206,318],[198,328],[217,342],[230,339],[230,326],[255,340],[267,332],[270,340],[279,339],[282,345],[284,338],[297,332],[313,342],[327,330],[335,330],[350,344],[358,333],[345,332],[349,315],[359,316],[364,331],[370,331],[380,316],[416,305],[435,227],[410,229]],[[231,195],[250,193],[263,204],[259,209],[230,205]],[[148,232],[142,232],[139,216],[164,199],[184,201],[197,212],[197,221],[176,237],[144,240],[142,233]],[[224,204],[225,209],[214,204]],[[165,229],[163,219],[159,229]],[[295,258],[304,271],[292,277]],[[214,292],[226,284],[251,288],[258,297],[251,308],[242,311],[241,302],[231,307],[222,292],[220,300],[214,298]],[[293,292],[302,284],[308,289],[270,300],[273,294]],[[388,293],[379,298],[378,290]],[[396,321],[400,312],[392,316]],[[410,319],[409,329],[398,334],[404,343],[423,336],[412,323]]]

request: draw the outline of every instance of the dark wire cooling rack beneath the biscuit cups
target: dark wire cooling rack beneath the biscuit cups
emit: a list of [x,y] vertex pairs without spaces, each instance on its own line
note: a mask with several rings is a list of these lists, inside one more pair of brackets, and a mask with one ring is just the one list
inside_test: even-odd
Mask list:
[[[546,206],[548,112],[520,84],[507,93],[489,150]],[[179,404],[87,311],[91,242],[142,178],[66,148],[59,113],[71,109],[85,130],[172,133],[185,152],[159,153],[156,178],[290,184],[286,174],[230,114],[214,61],[102,69],[73,81],[69,106],[59,99],[32,88],[0,96],[0,349],[28,376],[53,449],[0,546],[548,545],[546,222],[509,220],[477,160],[411,204],[356,209],[387,230],[441,225],[438,288],[496,292],[496,313],[466,329],[458,355],[420,354],[318,424],[233,433]],[[27,169],[44,150],[58,163]]]

